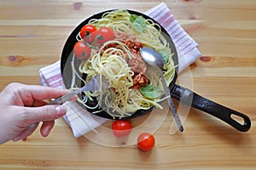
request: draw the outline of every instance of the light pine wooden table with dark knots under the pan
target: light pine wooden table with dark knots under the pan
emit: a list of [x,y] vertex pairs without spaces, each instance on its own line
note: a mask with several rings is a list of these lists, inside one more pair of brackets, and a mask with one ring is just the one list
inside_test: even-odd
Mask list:
[[191,109],[183,133],[170,135],[170,124],[164,122],[154,133],[154,149],[143,152],[135,144],[112,148],[84,137],[75,139],[67,123],[59,119],[48,138],[37,130],[26,142],[2,144],[1,169],[256,168],[254,0],[79,2],[0,1],[0,89],[9,82],[39,84],[38,70],[60,59],[67,36],[90,14],[109,8],[143,12],[165,2],[204,56],[189,67],[193,91],[250,116],[252,127],[240,133]]

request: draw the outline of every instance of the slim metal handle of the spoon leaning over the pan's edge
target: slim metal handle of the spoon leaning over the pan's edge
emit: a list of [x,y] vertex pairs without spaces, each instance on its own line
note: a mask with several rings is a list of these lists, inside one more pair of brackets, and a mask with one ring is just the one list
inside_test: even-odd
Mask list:
[[166,97],[168,96],[167,98],[167,102],[168,102],[168,105],[169,105],[169,108],[171,109],[172,111],[172,115],[174,116],[174,120],[177,124],[177,127],[179,129],[180,132],[183,132],[183,125],[180,121],[180,118],[179,116],[177,115],[177,110],[175,108],[175,105],[173,104],[173,101],[172,101],[172,97],[171,97],[171,94],[170,94],[170,90],[169,88],[167,88],[167,85],[166,85],[166,80],[165,80],[165,77],[164,77],[164,74],[163,72],[160,70],[159,67],[157,67],[158,70],[160,71],[160,79],[161,79],[161,82],[162,82],[162,85],[163,85],[163,88],[164,88],[164,92],[166,94]]

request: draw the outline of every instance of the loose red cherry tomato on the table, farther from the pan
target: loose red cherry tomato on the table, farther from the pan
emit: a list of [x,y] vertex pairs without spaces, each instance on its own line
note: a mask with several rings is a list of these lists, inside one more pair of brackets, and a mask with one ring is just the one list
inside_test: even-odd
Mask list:
[[154,136],[151,133],[141,133],[137,138],[137,145],[139,149],[148,151],[154,147]]

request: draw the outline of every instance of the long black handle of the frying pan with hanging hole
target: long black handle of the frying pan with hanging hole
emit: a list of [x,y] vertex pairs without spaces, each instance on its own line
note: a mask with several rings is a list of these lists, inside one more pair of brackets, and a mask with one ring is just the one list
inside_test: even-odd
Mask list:
[[[199,94],[195,94],[187,88],[174,84],[171,95],[174,99],[179,100],[185,105],[191,105],[191,107],[195,109],[205,111],[212,116],[218,117],[218,119],[227,122],[241,132],[247,132],[251,127],[251,121],[248,116],[238,111],[231,110],[224,105],[219,105]],[[243,123],[241,124],[241,122],[236,121],[236,119],[232,117],[239,118],[239,120],[241,119]]]

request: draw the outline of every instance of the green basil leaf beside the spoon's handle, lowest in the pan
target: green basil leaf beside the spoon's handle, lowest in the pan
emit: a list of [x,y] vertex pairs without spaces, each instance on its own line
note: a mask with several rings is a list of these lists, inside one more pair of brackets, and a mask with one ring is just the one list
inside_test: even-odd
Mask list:
[[149,99],[159,98],[163,94],[160,88],[155,87],[153,85],[144,86],[140,88],[140,91],[145,97]]

